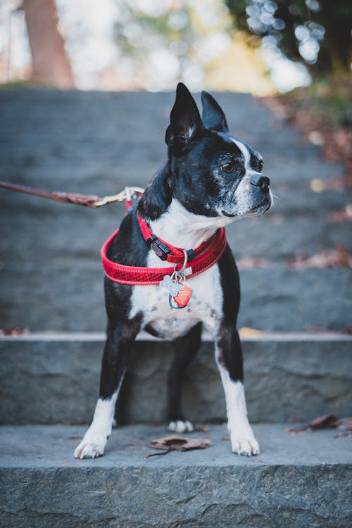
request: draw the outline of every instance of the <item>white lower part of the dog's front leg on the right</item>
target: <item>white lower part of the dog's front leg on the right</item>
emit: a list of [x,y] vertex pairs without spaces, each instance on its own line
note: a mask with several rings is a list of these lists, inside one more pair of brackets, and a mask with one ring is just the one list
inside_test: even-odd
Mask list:
[[218,360],[218,351],[216,361],[225,392],[227,429],[230,432],[232,451],[242,455],[258,455],[259,445],[247,417],[244,385],[242,382],[232,381],[229,372]]

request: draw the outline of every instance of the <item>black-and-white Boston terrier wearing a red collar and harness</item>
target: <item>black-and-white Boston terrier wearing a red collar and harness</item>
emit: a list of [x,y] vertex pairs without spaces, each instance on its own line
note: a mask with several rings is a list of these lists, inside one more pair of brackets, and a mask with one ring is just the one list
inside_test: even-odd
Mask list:
[[[260,452],[246,412],[237,332],[239,275],[224,227],[270,209],[270,180],[263,175],[260,153],[229,133],[225,114],[213,96],[202,92],[201,101],[202,118],[187,87],[177,85],[165,133],[168,161],[109,241],[106,258],[111,265],[117,263],[122,275],[116,279],[107,272],[105,278],[108,328],[99,399],[75,458],[103,455],[132,343],[142,329],[175,340],[168,377],[168,429],[194,430],[182,414],[181,386],[184,369],[201,343],[202,325],[215,343],[232,451]],[[165,258],[173,253],[181,258],[175,258],[174,272],[166,274],[170,260]],[[123,277],[130,277],[129,270],[137,274],[142,270],[145,280],[123,282]],[[149,270],[161,274],[160,284],[158,279],[148,282]],[[185,301],[178,298],[180,291]]]

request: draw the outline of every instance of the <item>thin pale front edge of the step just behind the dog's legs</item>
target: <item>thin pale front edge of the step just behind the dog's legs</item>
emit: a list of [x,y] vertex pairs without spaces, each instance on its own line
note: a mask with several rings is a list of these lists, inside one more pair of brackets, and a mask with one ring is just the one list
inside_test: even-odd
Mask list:
[[[252,333],[253,332],[253,333]],[[260,330],[239,329],[241,341],[351,341],[352,335],[339,332],[265,332]],[[15,335],[0,335],[0,343],[6,341],[84,341],[103,342],[106,339],[105,332],[57,332],[48,330],[43,332],[28,332]],[[136,341],[172,341],[172,339],[161,339],[153,337],[147,332],[139,332]],[[213,341],[209,332],[203,331],[202,341]]]

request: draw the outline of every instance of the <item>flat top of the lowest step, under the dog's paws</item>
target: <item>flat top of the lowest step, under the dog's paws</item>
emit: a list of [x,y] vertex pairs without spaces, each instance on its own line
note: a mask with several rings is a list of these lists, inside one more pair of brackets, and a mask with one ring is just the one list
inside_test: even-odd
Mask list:
[[[294,424],[296,426],[297,424]],[[26,425],[1,426],[0,467],[101,467],[121,471],[125,467],[263,467],[263,466],[312,466],[351,465],[351,439],[336,439],[341,431],[324,429],[303,434],[288,434],[292,424],[256,424],[253,431],[260,442],[258,457],[242,457],[231,453],[225,425],[206,425],[208,431],[194,432],[189,437],[207,438],[213,445],[204,450],[170,453],[168,457],[153,457],[148,461],[144,455],[156,453],[148,444],[171,434],[163,426],[126,425],[113,430],[106,455],[98,460],[75,460],[73,451],[87,427],[80,425]],[[185,436],[185,435],[180,435]],[[188,435],[187,435],[188,436]]]

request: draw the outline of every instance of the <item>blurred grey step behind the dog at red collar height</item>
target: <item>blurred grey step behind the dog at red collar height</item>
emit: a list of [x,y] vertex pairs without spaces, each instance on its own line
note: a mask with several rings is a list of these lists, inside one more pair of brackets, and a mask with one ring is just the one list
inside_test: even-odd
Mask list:
[[[125,214],[123,204],[87,210],[33,198],[28,203],[26,196],[21,196],[18,203],[18,194],[11,194],[11,199],[9,195],[10,191],[0,210],[0,254],[6,268],[18,261],[34,268],[38,263],[55,266],[56,260],[63,257],[97,258],[103,242],[118,228]],[[0,194],[0,198],[4,196]],[[313,197],[317,199],[316,195]],[[295,256],[311,256],[320,249],[332,251],[338,244],[352,253],[351,222],[334,222],[330,215],[342,209],[344,203],[329,198],[325,208],[321,199],[319,210],[314,212],[308,204],[300,214],[282,210],[280,213],[275,207],[263,218],[244,219],[227,226],[227,240],[237,258],[285,263]],[[287,201],[282,205],[289,206]]]

